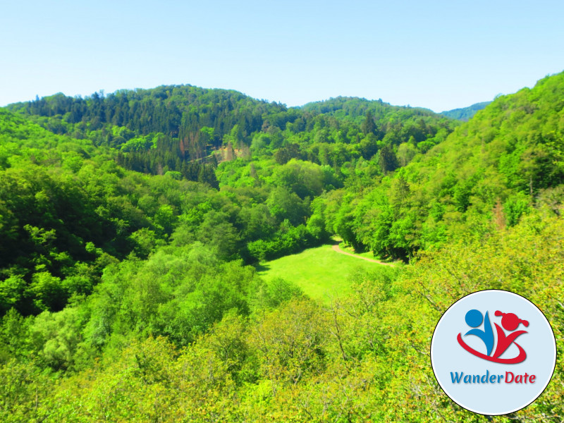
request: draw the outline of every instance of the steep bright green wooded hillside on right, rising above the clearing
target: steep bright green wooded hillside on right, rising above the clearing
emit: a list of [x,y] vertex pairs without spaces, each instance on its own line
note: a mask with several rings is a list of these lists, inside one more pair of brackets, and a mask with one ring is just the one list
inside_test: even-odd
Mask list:
[[[564,73],[498,97],[424,156],[378,185],[329,192],[319,217],[376,255],[410,257],[491,225],[513,226],[562,200]],[[315,216],[315,215],[314,215]]]

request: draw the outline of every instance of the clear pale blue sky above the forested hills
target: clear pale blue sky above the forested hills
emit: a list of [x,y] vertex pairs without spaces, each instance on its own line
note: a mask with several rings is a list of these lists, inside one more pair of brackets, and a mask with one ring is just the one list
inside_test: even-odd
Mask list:
[[443,111],[564,70],[564,1],[4,1],[0,105],[191,84]]

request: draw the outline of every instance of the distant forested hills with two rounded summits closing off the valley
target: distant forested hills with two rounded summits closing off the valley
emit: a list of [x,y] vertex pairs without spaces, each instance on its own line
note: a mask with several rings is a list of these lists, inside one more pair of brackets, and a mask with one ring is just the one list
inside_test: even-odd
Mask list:
[[[85,99],[56,94],[8,109],[53,133],[87,137],[94,145],[130,153],[120,162],[127,168],[178,171],[189,179],[185,162],[221,161],[235,152],[248,158],[281,150],[279,157],[286,161],[302,158],[335,166],[360,156],[371,159],[385,145],[396,149],[410,142],[414,151],[424,152],[455,125],[429,111],[382,102],[339,98],[288,109],[235,91],[190,85],[122,90],[105,97],[94,93]],[[212,156],[220,148],[223,156]]]

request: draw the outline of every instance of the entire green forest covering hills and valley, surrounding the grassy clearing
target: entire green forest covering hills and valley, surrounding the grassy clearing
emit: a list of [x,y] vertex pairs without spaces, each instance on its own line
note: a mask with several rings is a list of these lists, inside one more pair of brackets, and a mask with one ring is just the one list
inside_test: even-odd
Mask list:
[[[166,85],[0,108],[0,421],[562,422],[564,73],[474,106]],[[324,301],[261,275],[335,239],[384,264],[331,270]],[[431,370],[482,289],[557,340],[511,415]]]

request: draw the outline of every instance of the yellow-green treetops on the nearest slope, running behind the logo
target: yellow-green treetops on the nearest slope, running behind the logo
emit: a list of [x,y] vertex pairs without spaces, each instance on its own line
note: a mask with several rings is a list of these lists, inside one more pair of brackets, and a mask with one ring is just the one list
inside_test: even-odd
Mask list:
[[[8,362],[3,421],[475,422],[436,384],[434,325],[463,295],[498,288],[539,305],[562,337],[564,222],[541,213],[425,253],[399,277],[360,272],[353,295],[327,307],[289,297],[275,309],[226,313],[185,348],[135,337],[56,379],[37,362]],[[559,358],[539,400],[493,421],[560,421],[563,370]]]

